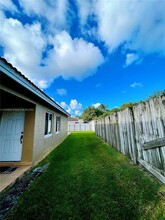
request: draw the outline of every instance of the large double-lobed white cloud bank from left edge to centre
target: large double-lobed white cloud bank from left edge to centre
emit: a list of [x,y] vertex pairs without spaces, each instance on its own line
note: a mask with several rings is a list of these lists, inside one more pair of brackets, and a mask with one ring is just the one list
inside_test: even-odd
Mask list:
[[81,38],[72,39],[65,31],[50,38],[43,33],[39,22],[23,25],[3,14],[0,23],[4,57],[41,89],[59,76],[83,80],[104,62],[98,47]]

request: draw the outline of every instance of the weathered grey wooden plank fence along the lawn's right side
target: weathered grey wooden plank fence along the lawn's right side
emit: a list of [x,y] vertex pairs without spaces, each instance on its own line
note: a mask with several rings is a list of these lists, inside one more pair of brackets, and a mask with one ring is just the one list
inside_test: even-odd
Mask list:
[[165,96],[96,120],[95,132],[165,184]]

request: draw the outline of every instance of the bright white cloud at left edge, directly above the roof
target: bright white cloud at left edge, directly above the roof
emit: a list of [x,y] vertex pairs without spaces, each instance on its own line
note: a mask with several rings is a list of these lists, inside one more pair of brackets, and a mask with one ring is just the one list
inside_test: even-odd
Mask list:
[[41,25],[22,25],[17,19],[7,19],[4,15],[0,17],[0,23],[0,42],[4,47],[4,57],[32,81],[42,84],[44,78],[39,65],[46,42]]

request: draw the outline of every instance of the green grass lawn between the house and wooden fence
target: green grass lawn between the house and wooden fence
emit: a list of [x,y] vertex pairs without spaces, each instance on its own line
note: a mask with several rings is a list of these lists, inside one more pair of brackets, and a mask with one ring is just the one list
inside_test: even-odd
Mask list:
[[163,184],[92,132],[72,133],[7,219],[165,219]]

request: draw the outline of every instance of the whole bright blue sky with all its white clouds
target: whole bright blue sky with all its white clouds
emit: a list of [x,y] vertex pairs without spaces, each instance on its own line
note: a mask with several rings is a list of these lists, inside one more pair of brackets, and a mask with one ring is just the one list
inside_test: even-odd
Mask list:
[[165,0],[0,0],[0,56],[71,115],[165,89]]

